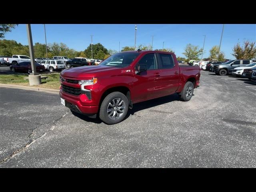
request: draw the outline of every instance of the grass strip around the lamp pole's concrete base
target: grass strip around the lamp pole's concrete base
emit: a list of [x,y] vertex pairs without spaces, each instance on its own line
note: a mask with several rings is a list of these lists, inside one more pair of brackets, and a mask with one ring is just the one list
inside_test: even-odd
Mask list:
[[[48,89],[59,89],[60,88],[60,74],[42,74],[42,76],[47,76],[47,79],[42,79],[42,84],[33,85],[33,87],[48,88]],[[3,84],[13,84],[13,85],[23,85],[29,86],[28,80],[24,80],[24,77],[28,75],[22,74],[10,74],[10,75],[0,75],[0,83]]]

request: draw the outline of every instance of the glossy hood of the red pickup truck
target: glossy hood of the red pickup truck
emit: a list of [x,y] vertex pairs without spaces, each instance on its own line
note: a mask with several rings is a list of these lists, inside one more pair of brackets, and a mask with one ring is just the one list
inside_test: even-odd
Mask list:
[[82,67],[74,67],[70,69],[63,70],[60,74],[63,77],[71,77],[71,78],[92,78],[97,76],[97,74],[101,72],[107,72],[112,70],[120,70],[120,68],[104,66],[104,65],[96,65],[96,66],[82,66]]

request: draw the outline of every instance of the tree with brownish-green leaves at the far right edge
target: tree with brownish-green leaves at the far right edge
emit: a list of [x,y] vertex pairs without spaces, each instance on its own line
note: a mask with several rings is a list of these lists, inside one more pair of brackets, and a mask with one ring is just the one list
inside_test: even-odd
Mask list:
[[234,46],[233,56],[236,59],[252,59],[256,57],[256,47],[255,42],[249,42],[248,40],[244,41],[244,45],[240,46],[240,43]]

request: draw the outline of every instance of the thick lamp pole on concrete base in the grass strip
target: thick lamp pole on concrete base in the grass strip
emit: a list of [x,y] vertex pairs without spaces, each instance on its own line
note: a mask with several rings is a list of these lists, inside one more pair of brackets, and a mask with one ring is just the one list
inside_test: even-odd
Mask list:
[[33,48],[30,24],[26,24],[26,28],[28,33],[28,48],[29,48],[31,68],[32,68],[32,73],[30,73],[28,76],[29,85],[39,85],[41,84],[41,76],[39,75],[39,73],[36,72],[36,64],[35,64],[35,58],[34,58],[34,48]]

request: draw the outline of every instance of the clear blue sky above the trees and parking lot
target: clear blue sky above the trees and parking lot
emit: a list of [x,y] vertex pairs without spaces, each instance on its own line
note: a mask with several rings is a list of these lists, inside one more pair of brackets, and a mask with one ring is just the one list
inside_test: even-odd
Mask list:
[[[107,49],[119,50],[124,46],[134,46],[134,24],[46,24],[47,43],[63,42],[69,48],[77,51],[84,50],[91,42],[100,42]],[[190,43],[203,47],[206,35],[204,58],[208,57],[209,50],[220,44],[222,24],[137,24],[136,44],[150,45],[154,35],[154,49],[171,48],[176,56],[184,56],[184,48]],[[45,43],[44,25],[32,24],[33,43]],[[26,25],[18,27],[5,35],[5,39],[16,40],[27,45],[28,38]],[[239,41],[256,40],[255,24],[225,24],[221,51],[226,58],[233,59],[232,48]]]

